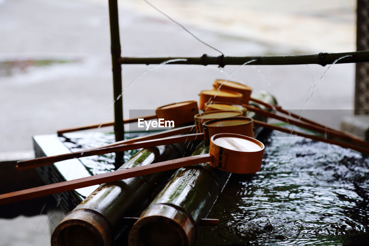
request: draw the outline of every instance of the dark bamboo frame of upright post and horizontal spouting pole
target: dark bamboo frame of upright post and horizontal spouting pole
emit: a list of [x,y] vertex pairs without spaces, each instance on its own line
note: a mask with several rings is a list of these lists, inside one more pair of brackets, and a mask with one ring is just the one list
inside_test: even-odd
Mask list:
[[[113,66],[113,94],[114,94],[114,133],[115,141],[124,140],[123,123],[123,95],[122,92],[122,64],[161,64],[171,57],[158,58],[135,58],[121,57],[118,3],[117,0],[109,0],[109,19],[111,37],[111,58]],[[342,58],[344,56],[349,56]],[[344,53],[318,53],[305,55],[275,55],[275,56],[252,56],[252,57],[210,57],[204,54],[201,57],[181,57],[182,61],[170,62],[168,64],[189,64],[189,65],[296,65],[296,64],[319,64],[325,66],[332,63],[356,63],[369,62],[369,51],[356,51]],[[256,60],[256,61],[252,61]],[[249,62],[252,61],[252,62]],[[121,160],[120,153],[116,153],[117,160]]]

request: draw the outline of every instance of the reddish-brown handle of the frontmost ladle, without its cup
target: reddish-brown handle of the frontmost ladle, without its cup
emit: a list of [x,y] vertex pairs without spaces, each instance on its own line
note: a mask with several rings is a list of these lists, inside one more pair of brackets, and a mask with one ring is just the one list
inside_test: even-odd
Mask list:
[[132,178],[147,174],[152,174],[154,172],[168,171],[176,168],[187,167],[189,165],[196,165],[204,162],[213,160],[211,154],[202,154],[199,156],[189,156],[179,159],[162,161],[158,163],[153,163],[150,165],[144,165],[139,167],[132,167],[128,169],[121,169],[114,172],[108,172],[104,174],[98,174],[94,176],[89,176],[85,178],[78,178],[76,180],[69,180],[64,182],[59,182],[55,184],[49,184],[44,186],[39,186],[30,189],[24,189],[21,191],[14,191],[6,194],[0,195],[0,205],[8,204],[11,202],[23,201],[26,199],[43,197],[46,195],[56,194],[63,191],[71,191],[74,189],[79,189],[83,187],[88,187],[92,185],[99,185],[107,182],[113,182],[117,180],[123,180],[125,178]]

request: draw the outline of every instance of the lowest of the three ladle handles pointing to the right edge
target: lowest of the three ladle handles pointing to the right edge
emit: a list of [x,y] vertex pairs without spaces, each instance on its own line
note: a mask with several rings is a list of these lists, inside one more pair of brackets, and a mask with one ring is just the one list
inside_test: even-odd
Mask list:
[[258,121],[258,120],[254,120],[254,125],[265,127],[265,128],[271,129],[271,130],[282,131],[284,133],[289,133],[289,134],[297,135],[297,136],[300,136],[300,137],[306,137],[307,139],[312,139],[312,140],[315,140],[315,141],[334,144],[334,145],[341,146],[341,147],[344,147],[344,148],[351,148],[352,150],[356,150],[356,151],[359,151],[359,152],[364,153],[364,154],[369,154],[369,149],[368,148],[363,148],[363,147],[355,146],[353,144],[342,143],[340,141],[336,141],[336,140],[332,140],[332,139],[325,139],[324,137],[320,137],[320,136],[314,136],[314,135],[310,135],[310,134],[306,134],[306,133],[301,133],[301,132],[298,132],[298,131],[293,131],[293,130],[286,129],[286,128],[283,128],[283,127],[280,127],[280,126],[274,126],[274,125],[271,125],[271,124],[267,124],[267,123],[264,123],[264,122],[261,122],[261,121]]

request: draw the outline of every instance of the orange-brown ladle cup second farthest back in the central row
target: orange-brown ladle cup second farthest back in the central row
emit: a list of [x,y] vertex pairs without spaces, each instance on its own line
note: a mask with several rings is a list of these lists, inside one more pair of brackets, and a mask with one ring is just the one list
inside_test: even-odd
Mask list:
[[202,90],[200,92],[200,109],[205,110],[206,102],[242,103],[242,94],[230,90]]

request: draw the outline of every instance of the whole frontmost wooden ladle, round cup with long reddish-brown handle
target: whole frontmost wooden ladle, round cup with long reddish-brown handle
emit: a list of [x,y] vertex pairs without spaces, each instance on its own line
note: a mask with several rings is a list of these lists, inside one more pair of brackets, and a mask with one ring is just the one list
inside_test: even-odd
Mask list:
[[263,152],[264,144],[251,137],[231,133],[216,134],[211,137],[209,154],[163,161],[10,192],[0,195],[0,205],[206,162],[223,171],[242,174],[255,173],[260,170]]

